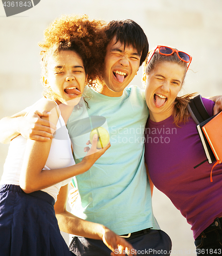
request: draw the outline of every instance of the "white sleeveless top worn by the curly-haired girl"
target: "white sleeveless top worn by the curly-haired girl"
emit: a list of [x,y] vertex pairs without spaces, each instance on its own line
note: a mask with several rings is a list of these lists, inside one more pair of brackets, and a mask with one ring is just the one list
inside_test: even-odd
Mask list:
[[[75,164],[71,150],[70,137],[61,114],[59,115],[56,127],[56,131],[58,131],[60,127],[63,127],[62,137],[58,132],[58,134],[55,135],[55,138],[52,139],[49,157],[43,169],[58,169]],[[27,139],[21,135],[11,141],[0,184],[19,185],[19,177],[23,165],[26,143]],[[44,188],[42,191],[51,195],[56,201],[60,187],[66,185],[71,179],[72,178]]]

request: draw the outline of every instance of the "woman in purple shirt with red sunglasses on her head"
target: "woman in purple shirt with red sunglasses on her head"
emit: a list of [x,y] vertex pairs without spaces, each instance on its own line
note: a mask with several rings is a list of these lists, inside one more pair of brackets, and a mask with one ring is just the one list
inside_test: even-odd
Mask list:
[[[150,57],[151,56],[151,57]],[[145,61],[145,96],[149,118],[145,129],[145,161],[153,184],[192,226],[197,255],[222,251],[222,166],[205,161],[196,123],[188,111],[193,95],[177,96],[192,57],[158,46]],[[213,116],[214,102],[203,98]]]

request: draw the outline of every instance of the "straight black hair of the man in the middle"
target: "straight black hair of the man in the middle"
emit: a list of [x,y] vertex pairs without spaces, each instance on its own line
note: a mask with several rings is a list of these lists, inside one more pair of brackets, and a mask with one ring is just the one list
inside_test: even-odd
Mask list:
[[116,36],[124,46],[132,46],[141,54],[140,66],[145,60],[149,51],[149,44],[143,29],[131,19],[113,20],[105,27],[108,39],[107,44]]

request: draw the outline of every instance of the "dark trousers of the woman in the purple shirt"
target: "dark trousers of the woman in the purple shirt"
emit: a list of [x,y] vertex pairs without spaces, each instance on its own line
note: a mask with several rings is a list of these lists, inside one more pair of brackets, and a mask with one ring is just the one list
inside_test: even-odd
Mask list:
[[196,239],[197,255],[222,255],[222,218],[216,218]]

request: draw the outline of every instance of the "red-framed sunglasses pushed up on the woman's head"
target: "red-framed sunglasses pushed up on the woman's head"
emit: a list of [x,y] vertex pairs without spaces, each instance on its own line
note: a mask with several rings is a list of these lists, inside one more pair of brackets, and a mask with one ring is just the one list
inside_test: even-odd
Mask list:
[[[153,51],[153,54],[157,51],[157,49],[159,50],[159,53],[160,53],[160,54],[166,55],[166,56],[172,55],[174,52],[176,52],[177,56],[178,56],[181,60],[183,60],[184,62],[187,62],[187,63],[188,63],[188,62],[191,63],[192,57],[191,57],[189,54],[185,53],[185,52],[181,52],[181,51],[178,51],[178,50],[176,50],[176,49],[173,49],[173,48],[167,47],[167,46],[158,46],[158,47]],[[153,54],[152,54],[152,56],[153,56]],[[150,57],[150,59],[152,58],[152,56]],[[150,59],[149,59],[149,61],[150,61]],[[148,65],[149,61],[147,62],[147,65]],[[189,63],[189,65],[188,65],[188,67],[187,67],[187,70],[188,70],[188,68],[189,68],[189,66],[190,66],[190,63]]]

